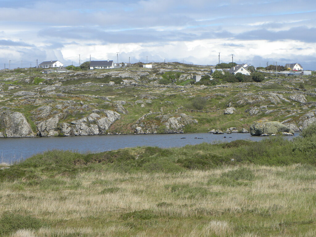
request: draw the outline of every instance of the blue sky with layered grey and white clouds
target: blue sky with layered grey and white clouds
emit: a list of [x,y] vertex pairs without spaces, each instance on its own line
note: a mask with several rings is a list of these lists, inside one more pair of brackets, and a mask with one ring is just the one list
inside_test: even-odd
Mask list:
[[314,0],[0,0],[0,69],[59,60],[301,63],[316,70]]

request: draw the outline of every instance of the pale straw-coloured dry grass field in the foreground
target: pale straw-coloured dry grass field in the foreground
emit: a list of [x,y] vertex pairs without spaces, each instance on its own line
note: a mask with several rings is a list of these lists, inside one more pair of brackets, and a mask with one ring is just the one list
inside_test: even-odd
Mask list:
[[[233,186],[210,182],[232,167],[177,174],[81,173],[75,179],[57,177],[65,183],[45,187],[4,182],[0,213],[50,223],[12,237],[315,236],[315,169],[248,168],[255,180]],[[168,185],[187,187],[192,195]]]

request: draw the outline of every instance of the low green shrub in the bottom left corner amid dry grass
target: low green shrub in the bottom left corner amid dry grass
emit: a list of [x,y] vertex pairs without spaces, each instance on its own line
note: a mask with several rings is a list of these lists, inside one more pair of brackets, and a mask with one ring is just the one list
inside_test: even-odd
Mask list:
[[10,212],[4,213],[0,219],[0,234],[9,234],[19,229],[39,229],[44,223],[32,216],[21,216]]

